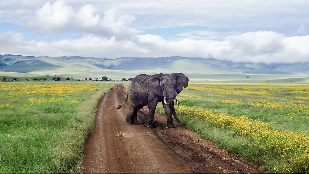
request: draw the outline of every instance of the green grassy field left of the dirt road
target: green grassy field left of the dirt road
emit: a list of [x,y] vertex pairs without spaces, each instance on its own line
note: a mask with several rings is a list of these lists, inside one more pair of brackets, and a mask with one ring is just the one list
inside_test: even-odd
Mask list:
[[0,83],[0,173],[76,173],[114,83]]

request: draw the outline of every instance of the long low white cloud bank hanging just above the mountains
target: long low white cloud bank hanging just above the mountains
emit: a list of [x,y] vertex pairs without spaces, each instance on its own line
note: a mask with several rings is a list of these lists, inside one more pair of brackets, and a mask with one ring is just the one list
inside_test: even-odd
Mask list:
[[[218,40],[165,40],[161,36],[138,35],[134,40],[117,40],[99,35],[55,42],[23,42],[22,34],[0,34],[2,54],[34,56],[85,56],[116,58],[122,56],[184,56],[216,58],[237,62],[309,61],[309,35],[286,37],[276,32],[248,32]],[[10,40],[8,43],[7,41]]]

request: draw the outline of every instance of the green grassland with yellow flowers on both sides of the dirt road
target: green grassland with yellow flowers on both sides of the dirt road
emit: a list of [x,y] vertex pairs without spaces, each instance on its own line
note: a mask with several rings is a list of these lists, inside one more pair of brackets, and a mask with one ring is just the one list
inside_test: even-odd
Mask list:
[[[114,84],[0,83],[0,173],[81,172],[95,109]],[[191,82],[176,112],[265,172],[308,173],[308,96],[309,84]]]

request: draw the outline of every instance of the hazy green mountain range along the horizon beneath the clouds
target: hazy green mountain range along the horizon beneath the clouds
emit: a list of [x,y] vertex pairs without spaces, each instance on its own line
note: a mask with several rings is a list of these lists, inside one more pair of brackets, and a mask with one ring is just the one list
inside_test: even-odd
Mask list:
[[[309,76],[309,62],[265,64],[179,56],[108,59],[0,54],[0,75],[17,73],[22,76],[61,75],[74,78],[109,76],[112,79],[121,79],[135,77],[137,74],[151,75],[161,72],[183,72],[193,79],[220,79],[219,74],[225,74],[222,76],[227,79],[238,75],[242,78],[243,75],[268,79],[303,78]],[[231,77],[228,78],[229,76]]]

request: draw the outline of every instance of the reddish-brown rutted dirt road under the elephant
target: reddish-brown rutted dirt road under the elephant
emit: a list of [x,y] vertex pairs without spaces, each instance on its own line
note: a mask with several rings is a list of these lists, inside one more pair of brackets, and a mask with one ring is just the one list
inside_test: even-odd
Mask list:
[[126,123],[128,102],[115,109],[125,97],[125,87],[116,85],[101,99],[83,157],[84,173],[260,172],[176,121],[176,129],[167,128],[158,113],[155,128],[144,127],[147,107],[138,112],[140,125]]

